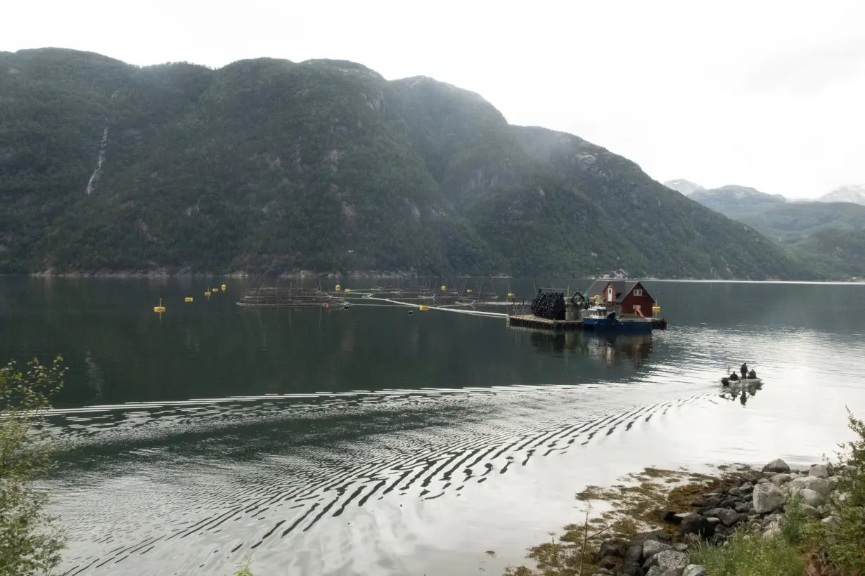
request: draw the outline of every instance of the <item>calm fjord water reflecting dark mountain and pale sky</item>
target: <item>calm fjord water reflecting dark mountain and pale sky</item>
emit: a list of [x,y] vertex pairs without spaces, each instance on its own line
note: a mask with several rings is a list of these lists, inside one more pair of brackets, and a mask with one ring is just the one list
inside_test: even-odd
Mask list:
[[[845,404],[865,414],[865,285],[646,282],[670,329],[606,339],[241,308],[227,284],[0,279],[3,357],[70,368],[48,483],[70,574],[500,573],[586,484],[808,464],[847,436]],[[766,385],[720,396],[742,360]]]

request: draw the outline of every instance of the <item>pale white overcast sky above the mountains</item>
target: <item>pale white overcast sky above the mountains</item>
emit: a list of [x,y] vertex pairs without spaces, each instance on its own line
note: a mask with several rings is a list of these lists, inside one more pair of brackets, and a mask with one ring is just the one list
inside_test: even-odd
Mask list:
[[431,76],[662,181],[792,197],[865,183],[865,0],[28,0],[3,22],[0,50]]

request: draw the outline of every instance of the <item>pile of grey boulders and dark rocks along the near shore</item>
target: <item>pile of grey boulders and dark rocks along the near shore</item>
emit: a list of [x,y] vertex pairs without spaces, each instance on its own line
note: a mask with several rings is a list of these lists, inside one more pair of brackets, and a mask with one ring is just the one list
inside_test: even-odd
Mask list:
[[[702,545],[726,546],[738,530],[769,539],[780,535],[781,516],[795,503],[806,516],[837,522],[826,506],[839,478],[831,464],[793,470],[782,459],[760,471],[740,472],[733,488],[709,490],[690,502],[691,510],[659,510],[666,529],[627,541],[601,542],[592,563],[593,576],[706,576],[706,568],[690,562],[689,551]],[[843,502],[847,495],[834,494]]]

